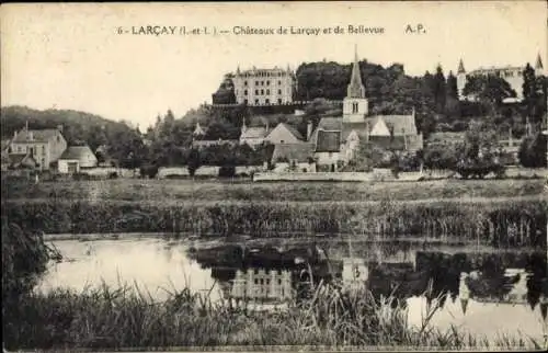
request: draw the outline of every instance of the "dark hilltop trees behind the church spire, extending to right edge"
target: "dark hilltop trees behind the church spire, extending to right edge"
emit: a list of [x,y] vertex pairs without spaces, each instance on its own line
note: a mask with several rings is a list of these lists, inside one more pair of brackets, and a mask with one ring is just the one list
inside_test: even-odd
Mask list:
[[[524,101],[521,104],[503,104],[515,92],[501,77],[486,76],[469,78],[464,94],[471,101],[459,101],[457,78],[437,66],[434,72],[421,77],[404,73],[402,65],[388,68],[359,61],[362,82],[369,100],[373,114],[404,114],[416,110],[419,129],[427,137],[433,132],[464,132],[472,118],[489,119],[500,132],[512,128],[515,137],[526,133],[527,123],[538,129],[546,114],[548,79],[536,77],[535,70],[526,65],[521,88]],[[338,62],[304,62],[297,71],[297,100],[342,100],[352,66]]]

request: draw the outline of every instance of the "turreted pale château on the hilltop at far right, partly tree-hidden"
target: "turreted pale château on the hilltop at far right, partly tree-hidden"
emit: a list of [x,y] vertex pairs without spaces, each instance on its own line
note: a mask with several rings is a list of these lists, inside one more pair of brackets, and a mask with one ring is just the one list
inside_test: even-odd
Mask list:
[[[521,102],[523,100],[523,70],[525,66],[506,66],[506,67],[490,67],[490,68],[478,68],[476,70],[467,72],[463,59],[458,62],[457,69],[457,89],[460,100],[469,99],[473,100],[472,96],[465,96],[463,91],[466,87],[466,82],[470,77],[495,75],[503,78],[509,82],[510,87],[516,92],[515,99],[507,99],[505,102],[514,103],[515,101]],[[537,55],[535,62],[535,75],[544,75],[543,60],[540,59],[540,54]]]

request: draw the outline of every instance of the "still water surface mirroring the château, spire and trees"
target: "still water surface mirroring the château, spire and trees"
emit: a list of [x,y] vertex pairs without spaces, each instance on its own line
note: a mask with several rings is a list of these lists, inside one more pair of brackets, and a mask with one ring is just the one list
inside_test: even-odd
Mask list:
[[[541,339],[547,331],[547,255],[501,252],[465,244],[413,241],[357,242],[282,240],[220,243],[162,239],[55,243],[66,259],[54,264],[42,289],[85,284],[117,285],[118,278],[148,288],[207,292],[213,300],[284,305],[310,295],[313,284],[336,283],[345,291],[367,288],[393,295],[420,324],[429,306],[432,322],[471,332],[516,333]],[[91,249],[91,250],[90,250]],[[509,319],[510,318],[510,319]]]

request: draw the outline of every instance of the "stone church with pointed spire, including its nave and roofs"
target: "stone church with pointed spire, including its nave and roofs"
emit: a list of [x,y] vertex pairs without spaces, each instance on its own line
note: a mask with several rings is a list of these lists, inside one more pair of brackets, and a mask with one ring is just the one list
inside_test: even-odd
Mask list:
[[343,100],[343,116],[323,117],[309,138],[318,166],[338,166],[352,160],[359,144],[369,143],[386,149],[415,152],[423,148],[423,137],[415,125],[415,112],[409,115],[372,115],[362,82],[357,50]]

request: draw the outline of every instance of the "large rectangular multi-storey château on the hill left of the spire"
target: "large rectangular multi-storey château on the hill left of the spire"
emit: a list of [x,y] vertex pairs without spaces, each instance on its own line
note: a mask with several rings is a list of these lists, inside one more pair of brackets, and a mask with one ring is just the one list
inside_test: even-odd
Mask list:
[[295,75],[287,67],[282,69],[256,69],[232,75],[236,101],[248,105],[276,105],[293,102]]

